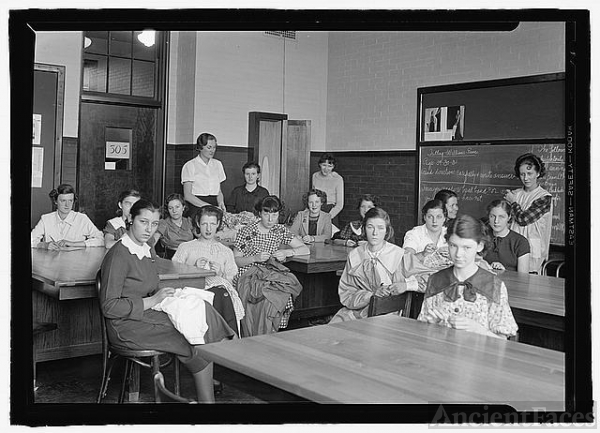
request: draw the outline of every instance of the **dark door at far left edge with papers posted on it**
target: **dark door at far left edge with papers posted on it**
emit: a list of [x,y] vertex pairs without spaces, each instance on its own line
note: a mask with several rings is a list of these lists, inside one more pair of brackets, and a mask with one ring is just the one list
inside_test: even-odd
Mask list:
[[36,64],[33,75],[31,228],[52,212],[48,193],[60,183],[64,66]]

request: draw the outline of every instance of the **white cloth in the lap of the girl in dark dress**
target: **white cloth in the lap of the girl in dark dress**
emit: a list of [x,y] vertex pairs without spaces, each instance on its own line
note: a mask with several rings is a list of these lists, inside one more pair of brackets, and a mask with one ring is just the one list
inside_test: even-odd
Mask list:
[[204,344],[204,334],[208,331],[204,302],[212,305],[214,297],[212,292],[184,287],[175,289],[173,296],[163,299],[152,309],[167,313],[175,329],[181,332],[190,344]]

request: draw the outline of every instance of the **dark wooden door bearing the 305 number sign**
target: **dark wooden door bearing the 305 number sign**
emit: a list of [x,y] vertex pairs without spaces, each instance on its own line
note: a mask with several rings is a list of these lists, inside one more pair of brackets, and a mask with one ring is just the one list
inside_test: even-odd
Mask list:
[[[117,211],[121,191],[135,188],[156,201],[157,110],[83,102],[80,111],[80,208],[100,229]],[[125,143],[129,143],[127,152]],[[117,152],[118,150],[118,152]],[[114,152],[114,153],[111,153]],[[160,203],[159,203],[160,204]]]

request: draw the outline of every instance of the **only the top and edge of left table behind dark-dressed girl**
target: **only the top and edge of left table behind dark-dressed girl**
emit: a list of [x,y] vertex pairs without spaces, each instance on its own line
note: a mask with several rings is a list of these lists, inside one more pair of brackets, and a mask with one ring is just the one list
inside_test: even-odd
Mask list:
[[[96,297],[96,273],[108,250],[90,247],[69,251],[31,249],[31,276],[42,284],[34,287],[58,299]],[[213,276],[214,272],[194,266],[156,259],[161,282],[187,283],[190,279]]]

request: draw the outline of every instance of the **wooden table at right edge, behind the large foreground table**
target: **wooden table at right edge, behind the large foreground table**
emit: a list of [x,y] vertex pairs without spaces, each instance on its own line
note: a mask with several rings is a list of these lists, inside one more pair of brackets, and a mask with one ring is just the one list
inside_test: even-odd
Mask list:
[[565,280],[514,271],[498,276],[519,325],[519,341],[564,350]]

